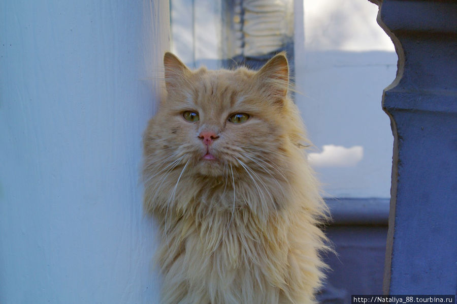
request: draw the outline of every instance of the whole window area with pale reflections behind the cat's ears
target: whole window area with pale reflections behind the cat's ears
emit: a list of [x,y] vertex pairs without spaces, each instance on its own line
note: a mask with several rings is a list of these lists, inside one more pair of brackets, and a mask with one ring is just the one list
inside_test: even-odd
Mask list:
[[172,51],[190,67],[257,69],[279,51],[293,67],[292,0],[171,0]]

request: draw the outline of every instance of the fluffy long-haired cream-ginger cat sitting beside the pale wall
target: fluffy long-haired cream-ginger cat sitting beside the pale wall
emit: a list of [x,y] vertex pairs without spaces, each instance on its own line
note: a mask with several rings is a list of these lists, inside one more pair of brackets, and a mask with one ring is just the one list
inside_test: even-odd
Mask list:
[[328,211],[288,95],[285,53],[258,72],[164,56],[144,133],[144,207],[160,228],[163,304],[313,303]]

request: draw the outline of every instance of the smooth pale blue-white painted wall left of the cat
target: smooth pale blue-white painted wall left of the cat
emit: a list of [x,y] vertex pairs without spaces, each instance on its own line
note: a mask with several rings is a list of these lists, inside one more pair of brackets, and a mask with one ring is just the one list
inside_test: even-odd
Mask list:
[[154,303],[141,137],[168,0],[0,4],[0,303]]

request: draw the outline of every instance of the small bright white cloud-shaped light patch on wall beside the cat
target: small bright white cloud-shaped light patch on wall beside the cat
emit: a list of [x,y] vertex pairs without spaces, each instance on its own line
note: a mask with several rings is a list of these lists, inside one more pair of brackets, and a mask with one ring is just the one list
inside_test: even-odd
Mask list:
[[321,153],[310,153],[308,161],[313,167],[353,167],[364,158],[363,146],[346,148],[324,145]]

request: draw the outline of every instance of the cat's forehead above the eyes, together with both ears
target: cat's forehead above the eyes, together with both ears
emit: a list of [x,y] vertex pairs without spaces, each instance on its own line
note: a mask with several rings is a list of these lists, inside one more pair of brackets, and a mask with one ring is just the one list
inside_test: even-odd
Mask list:
[[[189,70],[176,56],[166,53],[165,80],[170,100],[194,103],[202,110],[234,107],[237,102],[273,101],[286,97],[288,64],[283,53],[273,57],[260,71],[244,67],[209,71]],[[264,103],[256,106],[268,106]]]

